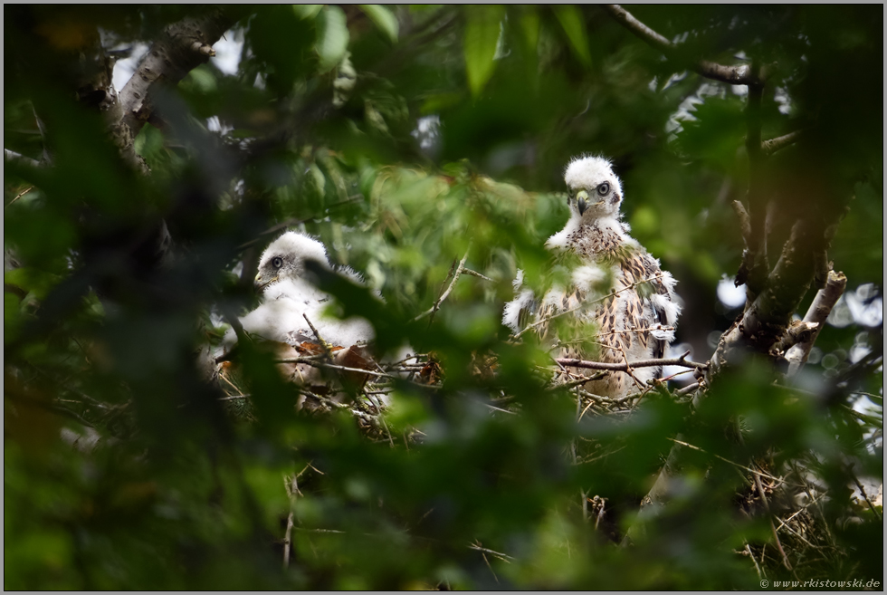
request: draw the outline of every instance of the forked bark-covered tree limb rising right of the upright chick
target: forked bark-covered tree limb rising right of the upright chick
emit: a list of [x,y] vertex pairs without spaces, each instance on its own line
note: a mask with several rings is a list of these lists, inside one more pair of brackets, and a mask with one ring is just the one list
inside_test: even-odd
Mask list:
[[[663,35],[656,33],[638,21],[619,5],[607,5],[607,11],[629,31],[658,48],[668,57],[680,49]],[[734,202],[746,249],[742,255],[736,283],[746,283],[748,295],[745,311],[739,321],[725,332],[719,341],[711,362],[704,369],[704,386],[711,387],[722,369],[740,350],[759,353],[781,352],[772,350],[778,346],[788,349],[789,377],[803,365],[816,335],[825,324],[838,297],[844,290],[843,274],[830,272],[825,250],[834,235],[834,222],[825,221],[820,214],[807,211],[792,228],[791,236],[783,246],[777,264],[770,270],[768,262],[768,222],[772,210],[768,209],[767,186],[762,177],[765,159],[779,149],[796,142],[799,132],[777,139],[761,140],[760,107],[766,73],[757,63],[749,66],[726,67],[709,61],[694,62],[691,66],[702,76],[730,84],[749,86],[746,109],[746,150],[749,156],[749,189],[746,205]],[[811,201],[817,204],[817,201]],[[818,204],[821,204],[819,201]],[[815,279],[828,277],[825,289],[817,294],[814,305],[807,312],[805,321],[790,326],[791,317]],[[794,346],[792,346],[794,344]],[[700,398],[699,396],[697,398]],[[682,458],[681,446],[675,445],[650,493],[644,498],[641,518],[655,515],[668,498],[668,486],[672,475],[679,473]],[[759,482],[758,482],[759,484]],[[632,527],[625,543],[634,541],[638,527]]]

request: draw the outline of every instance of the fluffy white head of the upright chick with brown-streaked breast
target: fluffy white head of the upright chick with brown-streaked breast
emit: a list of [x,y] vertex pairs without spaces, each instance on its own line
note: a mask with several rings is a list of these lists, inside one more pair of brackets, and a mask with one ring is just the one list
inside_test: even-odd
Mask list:
[[573,216],[594,220],[619,217],[622,182],[613,173],[610,161],[603,157],[574,158],[564,172],[567,202]]

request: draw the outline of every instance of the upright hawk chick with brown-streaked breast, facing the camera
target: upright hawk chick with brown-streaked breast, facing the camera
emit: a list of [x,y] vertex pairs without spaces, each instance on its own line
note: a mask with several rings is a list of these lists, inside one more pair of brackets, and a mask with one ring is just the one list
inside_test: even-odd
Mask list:
[[[555,285],[539,302],[529,289],[521,289],[522,272],[515,283],[517,297],[505,307],[503,323],[520,332],[528,319],[539,336],[548,336],[553,319],[582,329],[591,323],[594,334],[583,338],[596,347],[583,352],[582,342],[557,337],[556,357],[622,363],[625,360],[661,358],[674,340],[681,306],[674,293],[674,278],[659,261],[628,235],[619,207],[622,183],[606,158],[574,158],[567,166],[567,205],[570,217],[565,226],[546,242],[555,258],[570,254],[578,265],[567,286]],[[561,315],[562,314],[562,315]],[[580,333],[581,334],[581,333]],[[595,370],[569,369],[589,376]],[[659,378],[661,368],[638,368],[634,378],[623,372],[587,382],[585,388],[598,395],[623,397],[638,384]]]

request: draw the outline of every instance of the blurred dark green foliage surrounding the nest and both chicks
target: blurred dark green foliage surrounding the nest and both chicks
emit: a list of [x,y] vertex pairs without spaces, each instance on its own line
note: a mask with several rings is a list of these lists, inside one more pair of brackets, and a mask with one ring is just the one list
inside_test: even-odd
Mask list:
[[[546,283],[563,168],[592,152],[613,158],[625,220],[681,282],[677,342],[711,354],[739,313],[716,288],[742,250],[746,96],[686,72],[699,57],[775,65],[763,138],[804,136],[768,160],[774,235],[849,206],[829,256],[877,309],[882,7],[632,9],[680,36],[665,60],[597,6],[256,6],[226,34],[243,40],[236,72],[211,61],[157,98],[140,175],[75,101],[66,40],[99,27],[106,49],[150,45],[201,10],[5,8],[5,149],[52,158],[5,162],[5,589],[748,590],[758,563],[777,580],[882,578],[882,520],[848,488],[882,481],[882,315],[827,326],[803,390],[749,357],[695,410],[663,390],[583,416],[548,387],[539,345],[501,325],[518,268]],[[174,248],[157,266],[161,220]],[[210,313],[252,305],[235,265],[286,226],[381,292],[329,282],[379,350],[408,341],[441,363],[439,388],[396,383],[380,441],[346,413],[297,413],[261,350],[244,356],[249,404],[220,401],[197,368],[220,338]],[[488,279],[464,275],[415,321],[466,254]],[[472,373],[481,354],[493,376]],[[491,411],[501,396],[518,415]],[[679,489],[620,548],[674,439],[696,447]],[[801,517],[819,547],[779,533],[793,571],[749,496],[752,461],[819,482]],[[586,495],[606,498],[600,523]],[[797,510],[784,500],[777,518]]]

